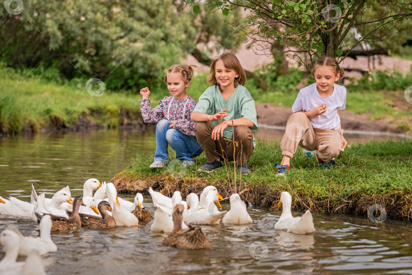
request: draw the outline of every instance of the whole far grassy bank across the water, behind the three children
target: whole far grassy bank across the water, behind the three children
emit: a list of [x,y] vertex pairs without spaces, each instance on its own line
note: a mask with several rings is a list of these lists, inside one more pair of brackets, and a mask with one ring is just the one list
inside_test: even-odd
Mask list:
[[[254,73],[246,83],[258,103],[290,108],[298,95],[298,86],[313,80],[309,77],[307,83],[298,85],[303,72],[291,70],[288,75],[277,76],[266,70],[266,73]],[[361,79],[356,85],[348,85],[346,109],[366,113],[371,120],[385,119],[403,131],[411,131],[412,104],[405,100],[404,89],[400,87],[412,79],[412,73],[402,77],[377,73],[370,80]],[[93,96],[86,91],[87,79],[57,81],[46,75],[33,75],[28,69],[17,72],[11,68],[0,69],[0,79],[0,132],[36,132],[56,126],[114,128],[141,123],[138,91],[143,87],[136,87],[134,91],[105,90],[100,96]],[[206,79],[206,73],[194,76],[188,89],[194,99],[198,100],[209,87]],[[368,89],[369,83],[373,84],[373,90]],[[169,95],[162,81],[150,89],[152,107]]]

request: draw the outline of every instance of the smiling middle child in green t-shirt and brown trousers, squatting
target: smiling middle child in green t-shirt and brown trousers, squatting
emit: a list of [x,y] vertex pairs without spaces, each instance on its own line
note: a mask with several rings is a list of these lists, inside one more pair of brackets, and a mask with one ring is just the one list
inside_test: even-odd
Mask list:
[[198,171],[212,172],[226,159],[236,161],[243,175],[250,174],[246,161],[256,144],[252,131],[257,130],[257,118],[255,102],[243,86],[245,70],[226,52],[212,62],[208,82],[212,87],[200,96],[191,115],[197,122],[196,139],[208,158]]

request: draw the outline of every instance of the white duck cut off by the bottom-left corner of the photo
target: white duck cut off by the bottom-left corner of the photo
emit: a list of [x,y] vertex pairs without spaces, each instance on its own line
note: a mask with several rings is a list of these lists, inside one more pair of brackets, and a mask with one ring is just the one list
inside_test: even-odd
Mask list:
[[16,262],[19,254],[19,236],[12,230],[3,230],[0,233],[0,242],[5,246],[6,255],[0,261],[0,274],[2,275],[45,275],[42,259],[38,252],[32,251],[25,262]]

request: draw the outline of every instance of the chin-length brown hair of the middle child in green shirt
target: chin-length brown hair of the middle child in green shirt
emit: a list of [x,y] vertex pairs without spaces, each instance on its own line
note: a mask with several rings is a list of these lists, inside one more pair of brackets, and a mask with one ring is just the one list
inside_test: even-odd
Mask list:
[[234,78],[234,88],[238,87],[238,84],[245,85],[246,82],[246,73],[245,70],[242,68],[239,59],[231,52],[225,52],[221,54],[221,56],[217,57],[213,60],[212,65],[210,65],[210,75],[208,76],[208,83],[210,85],[219,85],[219,82],[216,80],[216,62],[218,60],[223,61],[223,65],[225,68],[232,69],[236,72],[238,77]]

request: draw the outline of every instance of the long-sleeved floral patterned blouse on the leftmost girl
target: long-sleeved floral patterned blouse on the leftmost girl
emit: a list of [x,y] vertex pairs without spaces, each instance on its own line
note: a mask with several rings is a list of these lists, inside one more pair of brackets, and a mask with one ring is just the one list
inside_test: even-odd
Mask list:
[[190,120],[190,115],[195,106],[196,101],[191,96],[183,99],[165,96],[153,109],[150,105],[150,99],[140,100],[140,110],[144,122],[158,122],[162,118],[169,121],[176,120],[174,125],[176,130],[193,136],[195,136],[195,123]]

